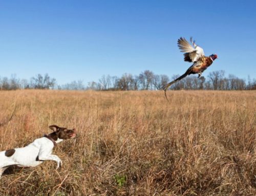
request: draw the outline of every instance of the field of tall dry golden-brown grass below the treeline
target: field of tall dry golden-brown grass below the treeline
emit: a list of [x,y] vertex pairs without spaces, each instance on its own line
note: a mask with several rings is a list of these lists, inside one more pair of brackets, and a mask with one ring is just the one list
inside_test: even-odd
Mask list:
[[76,127],[0,195],[255,195],[255,91],[0,91],[0,150]]

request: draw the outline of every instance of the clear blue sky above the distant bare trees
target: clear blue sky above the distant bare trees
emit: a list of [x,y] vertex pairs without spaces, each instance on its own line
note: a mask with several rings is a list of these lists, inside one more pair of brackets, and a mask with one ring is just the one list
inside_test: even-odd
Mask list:
[[177,39],[205,55],[203,75],[224,70],[256,78],[256,1],[0,1],[0,76],[48,73],[64,84],[151,70],[183,74]]

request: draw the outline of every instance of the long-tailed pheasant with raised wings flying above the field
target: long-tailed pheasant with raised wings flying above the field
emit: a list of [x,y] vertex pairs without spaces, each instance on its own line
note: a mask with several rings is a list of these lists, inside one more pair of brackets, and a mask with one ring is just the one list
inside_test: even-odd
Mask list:
[[190,37],[190,42],[191,45],[184,37],[180,37],[178,39],[178,47],[181,52],[184,52],[184,61],[193,62],[193,64],[187,69],[187,71],[183,75],[164,86],[163,90],[166,100],[168,100],[166,96],[166,90],[169,88],[170,85],[176,83],[177,81],[190,74],[198,74],[199,78],[204,70],[206,70],[212,64],[212,62],[214,62],[214,60],[218,58],[217,54],[205,56],[204,50],[196,45],[196,41],[193,41],[192,37]]

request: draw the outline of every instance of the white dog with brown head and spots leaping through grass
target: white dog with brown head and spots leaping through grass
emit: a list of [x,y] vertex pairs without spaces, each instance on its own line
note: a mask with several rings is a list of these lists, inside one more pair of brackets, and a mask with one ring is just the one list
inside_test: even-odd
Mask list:
[[10,166],[35,167],[48,160],[57,162],[56,169],[62,166],[60,158],[52,155],[52,149],[63,140],[75,138],[76,129],[67,129],[57,125],[51,125],[49,128],[54,132],[34,140],[25,147],[0,151],[0,178]]

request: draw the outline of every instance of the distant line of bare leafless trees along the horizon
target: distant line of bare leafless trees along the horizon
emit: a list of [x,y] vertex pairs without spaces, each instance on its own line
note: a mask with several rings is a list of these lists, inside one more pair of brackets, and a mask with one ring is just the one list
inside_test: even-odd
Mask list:
[[[167,75],[157,75],[145,70],[139,75],[123,74],[121,77],[103,75],[98,81],[84,84],[82,80],[58,85],[55,78],[48,74],[32,77],[30,80],[19,79],[15,75],[0,77],[0,90],[17,89],[58,89],[58,90],[101,90],[101,91],[129,91],[129,90],[162,90],[163,86],[179,75],[169,78]],[[256,80],[249,76],[247,80],[232,74],[225,76],[223,70],[210,72],[207,77],[188,76],[170,86],[173,90],[256,90]]]

